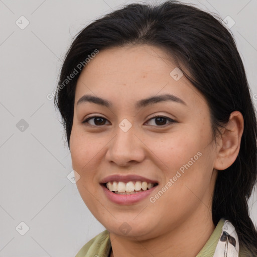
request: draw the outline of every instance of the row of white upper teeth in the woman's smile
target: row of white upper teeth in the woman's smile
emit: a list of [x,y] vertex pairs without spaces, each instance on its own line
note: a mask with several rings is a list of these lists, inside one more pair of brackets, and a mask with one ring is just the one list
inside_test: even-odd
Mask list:
[[133,191],[140,191],[143,189],[144,191],[147,189],[150,189],[154,186],[154,183],[147,183],[146,181],[130,181],[127,183],[124,182],[117,182],[117,181],[112,181],[112,182],[107,182],[106,187],[110,191],[118,191],[118,192],[133,192]]

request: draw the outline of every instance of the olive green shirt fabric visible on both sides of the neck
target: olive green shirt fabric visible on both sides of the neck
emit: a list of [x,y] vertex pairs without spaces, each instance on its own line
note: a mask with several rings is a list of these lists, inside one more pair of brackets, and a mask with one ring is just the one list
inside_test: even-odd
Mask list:
[[[196,257],[211,257],[214,255],[219,237],[222,232],[222,226],[224,225],[225,219],[221,218],[215,227],[213,233],[211,234],[208,241],[205,243],[200,252]],[[111,243],[109,232],[104,230],[99,233],[89,242],[87,242],[77,253],[75,257],[108,257],[111,250]],[[239,248],[239,257],[246,257]]]

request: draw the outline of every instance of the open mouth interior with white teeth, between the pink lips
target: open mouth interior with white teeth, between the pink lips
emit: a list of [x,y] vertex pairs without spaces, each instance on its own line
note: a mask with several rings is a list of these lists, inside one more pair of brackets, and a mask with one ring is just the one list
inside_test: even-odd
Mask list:
[[132,195],[138,194],[149,189],[152,189],[158,185],[157,182],[147,182],[147,181],[108,181],[106,183],[101,183],[102,186],[107,188],[110,192],[119,195]]

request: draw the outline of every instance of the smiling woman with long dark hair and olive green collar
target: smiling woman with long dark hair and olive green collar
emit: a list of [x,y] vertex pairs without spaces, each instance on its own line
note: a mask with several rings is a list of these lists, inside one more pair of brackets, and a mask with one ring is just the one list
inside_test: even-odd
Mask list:
[[256,117],[218,18],[168,1],[84,28],[55,103],[80,195],[106,228],[82,256],[257,256]]

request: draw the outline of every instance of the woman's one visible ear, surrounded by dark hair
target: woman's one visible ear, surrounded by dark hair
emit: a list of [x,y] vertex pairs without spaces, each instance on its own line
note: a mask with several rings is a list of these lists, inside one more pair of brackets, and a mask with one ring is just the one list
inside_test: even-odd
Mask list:
[[213,168],[225,170],[233,164],[240,150],[243,134],[243,115],[240,111],[230,113],[229,120],[217,140],[217,156]]

